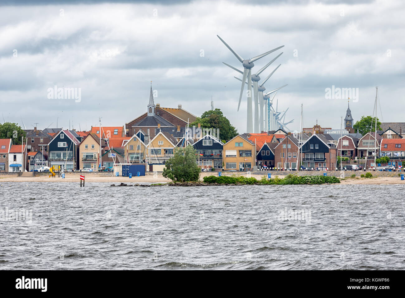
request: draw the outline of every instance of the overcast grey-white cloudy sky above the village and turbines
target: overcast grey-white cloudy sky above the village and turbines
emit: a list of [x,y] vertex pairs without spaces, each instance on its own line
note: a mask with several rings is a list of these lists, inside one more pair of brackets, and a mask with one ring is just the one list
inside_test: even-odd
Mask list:
[[[57,2],[57,1],[56,1]],[[90,129],[124,125],[146,111],[150,81],[155,103],[196,116],[220,108],[240,133],[246,99],[237,111],[241,77],[226,62],[280,45],[253,72],[283,51],[266,90],[279,90],[291,130],[318,123],[339,129],[347,99],[326,99],[325,88],[358,88],[354,120],[373,113],[379,86],[382,119],[405,122],[405,4],[403,1],[13,1],[0,6],[0,111],[32,129]],[[21,4],[22,3],[22,4]],[[73,3],[73,4],[71,4]],[[202,54],[203,53],[203,54]],[[294,55],[295,54],[295,55]],[[48,99],[48,88],[81,88],[81,101]],[[378,111],[381,120],[381,113]],[[3,122],[3,118],[0,119]]]

